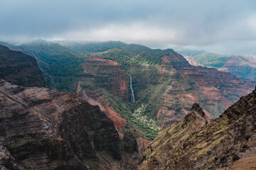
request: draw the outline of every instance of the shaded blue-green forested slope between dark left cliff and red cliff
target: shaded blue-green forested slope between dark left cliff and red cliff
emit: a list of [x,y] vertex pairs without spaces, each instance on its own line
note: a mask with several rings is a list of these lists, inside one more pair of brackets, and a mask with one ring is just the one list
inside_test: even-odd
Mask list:
[[76,90],[80,77],[82,77],[82,61],[84,55],[80,55],[68,47],[39,40],[28,44],[20,45],[23,51],[36,57],[41,67],[48,87],[58,91]]

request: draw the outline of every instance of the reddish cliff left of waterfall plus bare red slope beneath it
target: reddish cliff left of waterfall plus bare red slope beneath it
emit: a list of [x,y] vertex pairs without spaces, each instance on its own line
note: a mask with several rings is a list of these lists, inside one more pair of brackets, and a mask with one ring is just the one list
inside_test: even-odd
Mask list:
[[[122,129],[127,121],[109,107],[110,102],[105,93],[109,91],[123,102],[128,102],[128,74],[119,63],[96,57],[87,58],[83,68],[84,77],[78,81],[77,94],[91,105],[100,106],[100,110],[114,122],[115,128]],[[124,133],[119,132],[119,135],[123,137]]]

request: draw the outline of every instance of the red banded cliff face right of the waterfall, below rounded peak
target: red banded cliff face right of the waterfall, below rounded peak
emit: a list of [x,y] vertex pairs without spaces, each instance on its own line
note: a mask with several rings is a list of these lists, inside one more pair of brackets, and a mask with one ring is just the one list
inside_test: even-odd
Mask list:
[[200,103],[206,114],[216,118],[240,96],[250,93],[256,84],[217,69],[192,66],[176,52],[161,60],[159,83],[168,81],[171,85],[157,113],[163,127],[183,118],[193,103]]

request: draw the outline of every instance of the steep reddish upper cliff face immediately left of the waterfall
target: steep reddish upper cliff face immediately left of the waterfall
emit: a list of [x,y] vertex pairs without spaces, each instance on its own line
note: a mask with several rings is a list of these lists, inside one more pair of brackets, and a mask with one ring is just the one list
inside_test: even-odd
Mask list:
[[[129,101],[129,76],[119,63],[90,57],[83,63],[83,68],[85,77],[80,81],[80,84],[83,85],[82,89],[102,88],[106,91],[111,91],[114,96],[119,96],[125,102]],[[86,82],[93,84],[93,87],[90,84],[86,84]],[[98,94],[87,95],[97,98]]]

